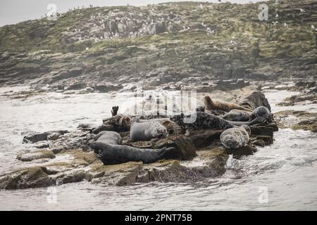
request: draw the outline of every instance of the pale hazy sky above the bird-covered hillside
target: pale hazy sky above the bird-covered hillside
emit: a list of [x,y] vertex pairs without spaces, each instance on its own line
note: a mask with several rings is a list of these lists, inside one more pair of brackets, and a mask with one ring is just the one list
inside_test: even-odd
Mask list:
[[[1,0],[0,1],[0,26],[18,23],[24,20],[40,18],[49,10],[48,4],[56,4],[60,13],[68,11],[68,8],[75,6],[146,6],[147,4],[157,4],[168,1],[190,1],[190,0]],[[192,0],[197,1],[197,0]],[[206,1],[206,0],[200,0]],[[222,0],[228,1],[228,0]],[[263,0],[251,0],[252,2]],[[264,0],[265,1],[265,0]],[[218,2],[218,0],[209,0]],[[232,3],[248,3],[250,0],[230,0]]]

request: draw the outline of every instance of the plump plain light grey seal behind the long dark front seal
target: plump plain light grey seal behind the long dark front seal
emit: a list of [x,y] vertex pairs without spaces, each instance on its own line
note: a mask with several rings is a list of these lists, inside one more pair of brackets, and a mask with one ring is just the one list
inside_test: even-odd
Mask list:
[[139,119],[133,119],[130,136],[132,141],[149,141],[166,137],[168,131],[160,122],[154,120],[149,122],[139,122]]

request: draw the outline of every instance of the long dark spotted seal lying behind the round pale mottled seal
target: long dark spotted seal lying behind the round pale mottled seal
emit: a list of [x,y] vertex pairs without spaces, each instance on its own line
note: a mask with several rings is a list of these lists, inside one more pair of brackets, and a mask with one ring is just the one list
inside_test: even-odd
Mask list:
[[[193,121],[189,123],[185,123],[185,119],[192,118]],[[249,122],[240,122],[240,121],[228,121],[223,120],[222,118],[212,115],[210,113],[193,113],[192,115],[175,115],[170,118],[170,120],[173,120],[176,122],[180,127],[189,129],[189,130],[195,130],[195,129],[229,129],[235,126],[242,126],[247,125],[251,126],[254,124],[259,124],[266,122],[266,119],[263,117],[256,117],[254,120],[251,120]]]

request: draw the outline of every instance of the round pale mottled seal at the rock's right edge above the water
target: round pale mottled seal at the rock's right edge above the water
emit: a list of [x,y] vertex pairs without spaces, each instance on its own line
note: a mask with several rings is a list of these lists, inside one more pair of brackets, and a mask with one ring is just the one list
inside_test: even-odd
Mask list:
[[220,141],[226,148],[234,149],[247,146],[251,129],[247,125],[226,129],[220,134]]

